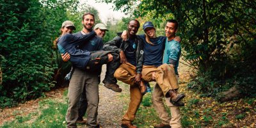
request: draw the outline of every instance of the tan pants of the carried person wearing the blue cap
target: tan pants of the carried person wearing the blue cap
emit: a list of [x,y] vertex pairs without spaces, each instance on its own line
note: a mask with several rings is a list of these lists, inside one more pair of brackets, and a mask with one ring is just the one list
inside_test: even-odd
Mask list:
[[[156,80],[152,79],[153,72],[156,72]],[[169,90],[179,88],[174,68],[166,63],[159,67],[143,65],[141,75],[142,79],[145,81],[156,81],[164,95],[166,95]]]

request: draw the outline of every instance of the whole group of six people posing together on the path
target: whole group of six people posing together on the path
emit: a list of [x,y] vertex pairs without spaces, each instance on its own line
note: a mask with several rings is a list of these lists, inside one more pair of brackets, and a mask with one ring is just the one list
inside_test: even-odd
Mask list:
[[[67,20],[61,26],[61,36],[57,41],[63,61],[71,61],[72,70],[68,86],[67,127],[76,127],[83,123],[88,127],[100,127],[97,122],[99,104],[99,83],[101,65],[107,64],[106,77],[102,81],[106,88],[122,92],[116,79],[130,85],[129,108],[122,118],[121,127],[136,128],[132,124],[143,95],[147,91],[145,83],[156,81],[152,92],[152,103],[159,118],[160,127],[182,127],[180,106],[185,97],[178,93],[178,70],[181,54],[180,39],[175,36],[178,29],[176,20],[167,20],[165,36],[156,36],[152,22],[145,22],[145,35],[136,35],[140,22],[130,20],[127,30],[106,42],[102,38],[108,29],[104,24],[95,24],[92,13],[84,13],[83,29],[76,29],[73,22]],[[170,108],[172,117],[164,108],[163,98]],[[87,120],[83,116],[87,111]]]

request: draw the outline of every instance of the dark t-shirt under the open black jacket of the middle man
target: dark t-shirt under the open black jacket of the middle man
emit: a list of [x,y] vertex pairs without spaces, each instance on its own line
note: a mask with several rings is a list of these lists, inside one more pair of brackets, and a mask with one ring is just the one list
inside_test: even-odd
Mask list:
[[132,65],[136,66],[136,44],[134,39],[128,39],[129,46],[125,49],[124,54],[127,59],[127,62],[131,63]]

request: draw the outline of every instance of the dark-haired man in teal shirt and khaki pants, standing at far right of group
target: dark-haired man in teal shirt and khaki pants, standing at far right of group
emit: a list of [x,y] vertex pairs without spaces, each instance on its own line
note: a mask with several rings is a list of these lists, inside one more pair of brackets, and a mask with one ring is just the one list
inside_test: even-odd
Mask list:
[[[166,42],[164,48],[163,64],[168,64],[170,68],[175,69],[176,79],[178,81],[178,66],[181,54],[180,43],[173,40],[175,38],[175,33],[178,29],[178,22],[176,20],[167,20],[166,26],[164,28],[166,35]],[[154,75],[153,75],[154,77]],[[177,90],[175,90],[177,91]],[[182,127],[181,125],[181,114],[179,106],[184,106],[184,103],[179,101],[177,103],[169,102],[170,97],[166,98],[166,104],[170,108],[172,118],[166,112],[163,104],[164,94],[158,84],[154,87],[152,93],[152,103],[156,109],[159,118],[161,119],[161,124],[154,125],[156,128],[168,128],[168,127]]]

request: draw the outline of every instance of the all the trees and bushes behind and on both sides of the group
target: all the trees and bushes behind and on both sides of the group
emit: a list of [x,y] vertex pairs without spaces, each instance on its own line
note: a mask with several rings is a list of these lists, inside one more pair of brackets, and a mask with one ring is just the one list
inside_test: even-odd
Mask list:
[[[152,21],[157,35],[163,35],[166,19],[177,19],[182,58],[196,70],[189,89],[221,101],[229,100],[221,98],[221,94],[228,92],[221,92],[230,88],[238,92],[234,97],[256,96],[256,1],[99,2],[114,3],[116,10],[131,15],[120,21],[109,18],[104,42],[126,29],[129,19],[138,19],[141,24]],[[52,42],[60,35],[61,23],[72,20],[79,31],[84,12],[94,13],[95,22],[101,22],[95,8],[86,4],[78,6],[78,3],[77,0],[0,1],[2,108],[40,97],[44,95],[42,92],[56,86],[54,73],[61,65],[60,54],[52,48]],[[141,28],[139,33],[143,33]]]

